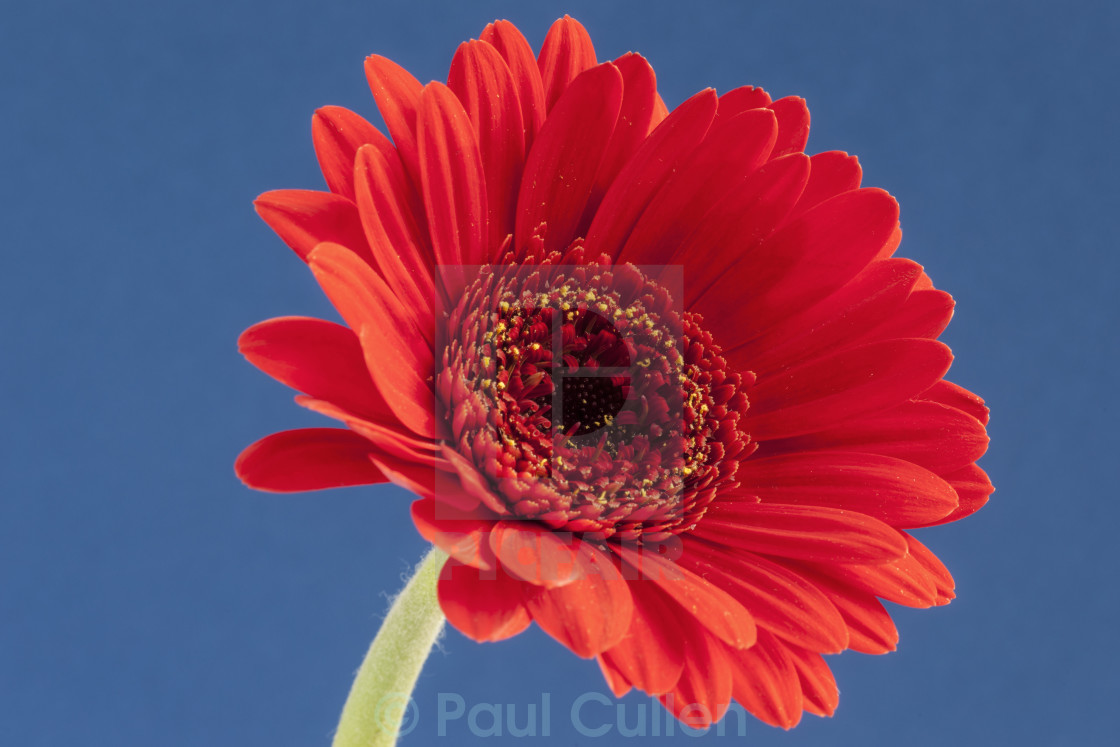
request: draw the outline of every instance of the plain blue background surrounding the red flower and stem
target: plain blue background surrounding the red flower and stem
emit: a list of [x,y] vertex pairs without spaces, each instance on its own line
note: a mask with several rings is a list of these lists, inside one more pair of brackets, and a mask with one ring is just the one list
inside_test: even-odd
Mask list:
[[[865,184],[902,203],[902,253],[958,300],[953,379],[993,411],[981,464],[998,492],[923,534],[959,599],[895,608],[897,653],[830,659],[833,719],[750,721],[747,744],[1103,744],[1120,694],[1117,8],[8,4],[0,743],[328,743],[424,545],[398,488],[276,496],[234,478],[255,438],[327,424],[236,353],[260,319],[333,317],[251,200],[323,188],[315,108],[380,122],[366,54],[444,78],[487,21],[538,48],[570,12],[600,58],[645,54],[670,105],[709,85],[805,96],[810,150],[858,153]],[[474,740],[466,719],[437,739],[438,692],[514,703],[519,722],[549,692],[558,741],[613,744],[569,722],[589,691],[606,692],[598,667],[538,631],[452,632],[404,744]],[[624,702],[632,721],[645,700]]]

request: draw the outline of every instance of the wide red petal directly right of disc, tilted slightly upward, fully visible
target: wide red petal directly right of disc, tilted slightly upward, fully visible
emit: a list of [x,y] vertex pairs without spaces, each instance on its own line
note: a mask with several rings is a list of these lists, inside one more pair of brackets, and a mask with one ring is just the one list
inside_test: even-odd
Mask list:
[[759,380],[750,392],[746,430],[756,440],[827,430],[916,396],[951,362],[948,347],[927,339],[840,351]]

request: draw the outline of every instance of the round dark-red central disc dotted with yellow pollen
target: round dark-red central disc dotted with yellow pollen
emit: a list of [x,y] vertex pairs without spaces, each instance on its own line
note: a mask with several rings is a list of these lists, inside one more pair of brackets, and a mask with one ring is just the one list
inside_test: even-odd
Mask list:
[[498,264],[468,280],[437,389],[455,447],[511,517],[663,539],[731,483],[747,401],[675,308],[679,270]]

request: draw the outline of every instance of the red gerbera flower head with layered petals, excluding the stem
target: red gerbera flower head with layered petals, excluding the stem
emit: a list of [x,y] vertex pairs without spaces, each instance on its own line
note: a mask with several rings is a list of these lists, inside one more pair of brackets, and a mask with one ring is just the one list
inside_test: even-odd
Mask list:
[[487,26],[447,85],[365,69],[392,141],[321,109],[330,192],[256,202],[346,326],[241,338],[346,429],[269,436],[241,478],[414,491],[476,641],[536,622],[693,726],[731,699],[832,713],[821,654],[893,650],[880,598],[953,597],[906,530],[991,492],[987,409],[943,379],[953,301],[894,256],[895,200],[803,152],[801,99],[669,112],[645,59],[597,63],[570,18],[539,58]]

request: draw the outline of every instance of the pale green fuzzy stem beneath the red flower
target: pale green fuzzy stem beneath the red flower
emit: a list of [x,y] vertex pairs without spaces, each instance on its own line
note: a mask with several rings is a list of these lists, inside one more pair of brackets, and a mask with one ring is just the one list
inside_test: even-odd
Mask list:
[[[444,629],[436,581],[447,554],[432,548],[416,575],[393,600],[351,687],[334,747],[382,747],[396,744],[401,720],[409,716],[412,688],[432,644]],[[417,718],[414,707],[410,718]]]

